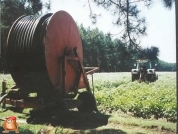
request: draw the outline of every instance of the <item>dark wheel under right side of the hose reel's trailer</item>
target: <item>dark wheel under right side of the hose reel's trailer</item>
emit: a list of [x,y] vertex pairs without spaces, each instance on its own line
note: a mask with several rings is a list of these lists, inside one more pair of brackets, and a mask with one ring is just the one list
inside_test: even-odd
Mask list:
[[90,92],[82,92],[79,94],[77,100],[82,101],[82,104],[78,107],[79,112],[93,112],[98,111],[96,107],[95,97]]

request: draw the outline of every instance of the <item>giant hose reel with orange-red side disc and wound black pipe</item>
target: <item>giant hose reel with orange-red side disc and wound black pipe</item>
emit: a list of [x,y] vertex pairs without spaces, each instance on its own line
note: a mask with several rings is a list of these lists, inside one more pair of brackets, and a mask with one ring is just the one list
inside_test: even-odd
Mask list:
[[7,39],[7,59],[12,78],[22,91],[60,91],[65,75],[65,92],[68,93],[76,86],[78,72],[69,64],[65,74],[62,73],[62,59],[64,52],[70,55],[74,47],[77,47],[82,61],[79,31],[67,12],[21,16],[12,25]]

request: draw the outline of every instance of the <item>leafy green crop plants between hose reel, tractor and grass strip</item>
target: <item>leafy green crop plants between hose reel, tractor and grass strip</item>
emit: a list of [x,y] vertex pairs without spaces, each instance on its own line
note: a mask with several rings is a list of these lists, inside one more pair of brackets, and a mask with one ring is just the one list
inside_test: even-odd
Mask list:
[[130,73],[95,74],[95,96],[101,111],[176,120],[175,73],[159,73],[159,80],[149,84],[131,82],[130,77]]

